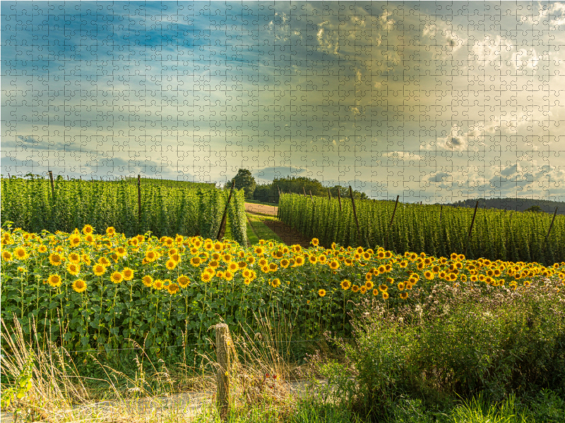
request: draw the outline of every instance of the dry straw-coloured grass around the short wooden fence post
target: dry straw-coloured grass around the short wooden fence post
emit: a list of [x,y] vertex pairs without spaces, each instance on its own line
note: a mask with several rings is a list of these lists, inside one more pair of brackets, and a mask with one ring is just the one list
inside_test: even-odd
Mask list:
[[[264,315],[256,319],[259,330],[242,328],[242,335],[234,342],[238,354],[232,356],[232,409],[245,414],[246,410],[273,407],[279,415],[285,415],[295,404],[287,381],[299,372],[299,367],[289,360],[292,325],[287,321],[273,324]],[[179,363],[178,368],[184,372],[181,383],[179,375],[172,376],[165,362],[153,363],[143,345],[134,344],[141,349],[141,356],[135,359],[133,376],[90,355],[106,377],[88,378],[79,374],[73,357],[64,348],[52,342],[41,345],[35,324],[28,339],[18,320],[14,321],[10,328],[1,321],[0,371],[2,395],[11,396],[11,404],[2,411],[15,413],[18,422],[186,422],[196,416],[198,421],[217,419],[214,357],[203,357],[203,367],[197,372],[194,367]],[[26,369],[31,369],[30,389],[23,398],[16,398],[16,393],[9,391],[15,384],[6,381],[20,380]],[[106,398],[112,400],[96,402],[97,395],[89,390],[88,381],[103,386]],[[193,396],[179,395],[181,384],[185,388],[190,386]],[[208,395],[196,399],[194,389]]]

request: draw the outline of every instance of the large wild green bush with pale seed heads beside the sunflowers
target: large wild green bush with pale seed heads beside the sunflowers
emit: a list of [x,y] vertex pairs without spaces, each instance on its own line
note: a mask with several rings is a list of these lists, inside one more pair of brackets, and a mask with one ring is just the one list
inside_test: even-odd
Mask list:
[[[493,401],[565,389],[565,307],[547,279],[523,290],[435,286],[419,305],[367,302],[347,363],[322,372],[357,410],[391,417],[401,396],[441,407],[484,393]],[[355,383],[352,383],[352,378]]]

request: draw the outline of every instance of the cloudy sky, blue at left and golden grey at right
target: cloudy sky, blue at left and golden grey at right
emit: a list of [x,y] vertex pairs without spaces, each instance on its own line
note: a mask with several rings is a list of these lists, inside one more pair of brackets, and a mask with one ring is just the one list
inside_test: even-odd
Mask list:
[[[1,1],[1,173],[565,201],[557,1]],[[561,105],[561,102],[564,102]]]

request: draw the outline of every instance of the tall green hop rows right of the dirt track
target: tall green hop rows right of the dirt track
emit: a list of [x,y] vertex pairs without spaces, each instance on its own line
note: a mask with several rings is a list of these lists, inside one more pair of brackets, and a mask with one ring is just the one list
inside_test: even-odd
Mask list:
[[[452,252],[467,257],[513,262],[552,264],[565,260],[565,216],[547,213],[505,212],[478,209],[469,238],[473,209],[398,203],[390,226],[395,202],[357,200],[360,237],[350,199],[305,197],[283,194],[278,218],[307,238],[319,237],[322,245],[339,243],[364,247],[385,245],[395,252],[418,251],[436,257]],[[547,237],[547,239],[546,239]]]

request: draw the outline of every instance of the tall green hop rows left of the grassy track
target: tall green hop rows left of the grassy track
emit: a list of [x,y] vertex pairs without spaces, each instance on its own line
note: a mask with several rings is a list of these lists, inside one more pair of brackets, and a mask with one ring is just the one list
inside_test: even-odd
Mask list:
[[[229,195],[213,187],[178,188],[163,185],[159,180],[142,180],[139,214],[138,187],[131,179],[61,179],[55,181],[54,188],[53,192],[49,180],[44,178],[2,178],[2,219],[35,233],[71,232],[89,224],[97,228],[112,226],[130,237],[150,231],[159,238],[177,233],[215,238]],[[228,212],[232,236],[244,245],[242,190],[234,190]]]

